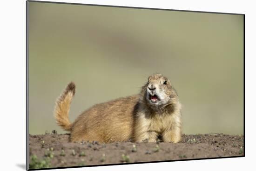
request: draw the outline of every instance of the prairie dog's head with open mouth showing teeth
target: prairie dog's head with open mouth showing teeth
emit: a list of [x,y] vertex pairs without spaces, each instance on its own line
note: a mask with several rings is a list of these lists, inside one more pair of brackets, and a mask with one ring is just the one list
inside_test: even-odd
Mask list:
[[161,108],[176,101],[177,94],[170,80],[162,74],[148,77],[148,82],[142,87],[143,99],[151,108]]

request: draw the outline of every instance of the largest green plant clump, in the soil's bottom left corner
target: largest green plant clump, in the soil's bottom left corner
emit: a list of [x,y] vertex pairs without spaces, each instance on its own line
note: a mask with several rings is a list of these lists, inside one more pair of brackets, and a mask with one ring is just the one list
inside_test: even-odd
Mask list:
[[30,157],[29,169],[39,169],[51,167],[51,162],[49,158],[44,158],[39,160],[36,155]]

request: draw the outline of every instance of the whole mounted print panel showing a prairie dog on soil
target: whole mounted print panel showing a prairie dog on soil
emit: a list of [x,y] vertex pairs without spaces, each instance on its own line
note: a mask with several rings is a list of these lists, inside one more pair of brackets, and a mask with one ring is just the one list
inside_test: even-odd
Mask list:
[[244,14],[27,1],[27,169],[226,157]]

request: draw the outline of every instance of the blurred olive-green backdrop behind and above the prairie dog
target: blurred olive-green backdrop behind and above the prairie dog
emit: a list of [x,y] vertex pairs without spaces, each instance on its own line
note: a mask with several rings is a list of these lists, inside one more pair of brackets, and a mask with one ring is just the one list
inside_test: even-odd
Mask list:
[[54,102],[76,83],[70,120],[168,76],[183,133],[243,134],[243,15],[29,2],[29,133],[64,133]]

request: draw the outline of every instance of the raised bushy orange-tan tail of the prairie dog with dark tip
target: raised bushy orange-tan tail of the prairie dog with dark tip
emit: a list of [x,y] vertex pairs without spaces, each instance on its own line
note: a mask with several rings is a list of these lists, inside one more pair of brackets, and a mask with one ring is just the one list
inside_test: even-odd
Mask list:
[[68,114],[70,109],[70,103],[74,97],[75,84],[74,82],[69,82],[67,88],[58,98],[54,108],[54,117],[59,126],[64,130],[70,131],[72,124],[69,121]]

